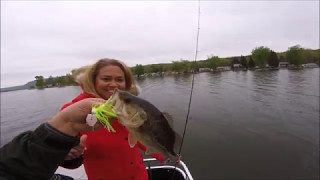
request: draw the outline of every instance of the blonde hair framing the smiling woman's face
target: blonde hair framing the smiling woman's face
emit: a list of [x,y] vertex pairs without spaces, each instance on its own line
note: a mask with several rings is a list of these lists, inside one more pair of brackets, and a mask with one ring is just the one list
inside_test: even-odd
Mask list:
[[84,92],[94,95],[95,97],[102,98],[95,89],[96,77],[99,70],[105,66],[118,66],[124,73],[124,78],[126,82],[125,90],[131,94],[138,95],[138,89],[134,82],[131,70],[123,62],[116,59],[100,59],[95,64],[88,66],[84,73],[77,76],[77,81],[80,84]]

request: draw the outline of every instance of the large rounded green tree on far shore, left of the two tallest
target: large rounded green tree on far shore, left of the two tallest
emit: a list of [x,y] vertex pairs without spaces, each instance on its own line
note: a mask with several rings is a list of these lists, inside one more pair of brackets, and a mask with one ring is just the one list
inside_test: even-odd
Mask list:
[[259,67],[265,67],[268,62],[269,52],[270,49],[268,47],[260,46],[253,49],[251,54],[253,60]]

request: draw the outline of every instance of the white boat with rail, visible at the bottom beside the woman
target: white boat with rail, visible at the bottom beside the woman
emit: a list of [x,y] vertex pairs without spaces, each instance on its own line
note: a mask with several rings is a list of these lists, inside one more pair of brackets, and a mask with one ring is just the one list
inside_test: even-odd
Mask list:
[[[145,162],[150,180],[193,180],[193,177],[187,165],[182,160],[176,167],[174,163],[162,165],[155,158],[146,158],[143,161]],[[56,174],[70,176],[75,180],[88,179],[83,165],[81,165],[77,169],[66,169],[63,167],[59,167],[56,171]]]

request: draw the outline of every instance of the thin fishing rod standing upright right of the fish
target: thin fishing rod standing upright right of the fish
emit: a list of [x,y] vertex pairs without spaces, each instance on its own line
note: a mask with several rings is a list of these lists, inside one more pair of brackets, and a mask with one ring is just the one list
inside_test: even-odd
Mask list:
[[[184,124],[184,130],[183,130],[183,135],[182,135],[182,140],[181,140],[181,144],[180,144],[180,148],[179,148],[179,152],[178,154],[181,155],[181,150],[182,150],[182,145],[184,142],[184,137],[186,134],[186,130],[187,130],[187,125],[188,125],[188,121],[189,121],[189,114],[190,114],[190,107],[191,107],[191,100],[192,100],[192,94],[193,94],[193,86],[194,86],[194,74],[195,74],[195,65],[197,62],[197,58],[198,58],[198,47],[199,47],[199,33],[200,33],[200,0],[198,0],[198,29],[197,29],[197,40],[196,40],[196,52],[195,52],[195,56],[194,56],[194,64],[193,64],[193,68],[192,68],[192,83],[191,83],[191,90],[190,90],[190,98],[189,98],[189,104],[188,104],[188,112],[187,112],[187,116],[186,116],[186,123]],[[174,177],[176,168],[177,168],[177,162],[175,163],[174,166],[174,171],[172,174],[172,179]]]

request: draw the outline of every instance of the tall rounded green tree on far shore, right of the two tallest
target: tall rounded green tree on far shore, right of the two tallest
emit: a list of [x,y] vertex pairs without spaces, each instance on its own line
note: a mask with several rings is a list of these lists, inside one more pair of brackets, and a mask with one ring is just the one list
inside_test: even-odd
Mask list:
[[303,56],[303,48],[300,45],[289,47],[286,51],[286,58],[289,63],[294,65],[301,65],[305,62],[305,58]]

